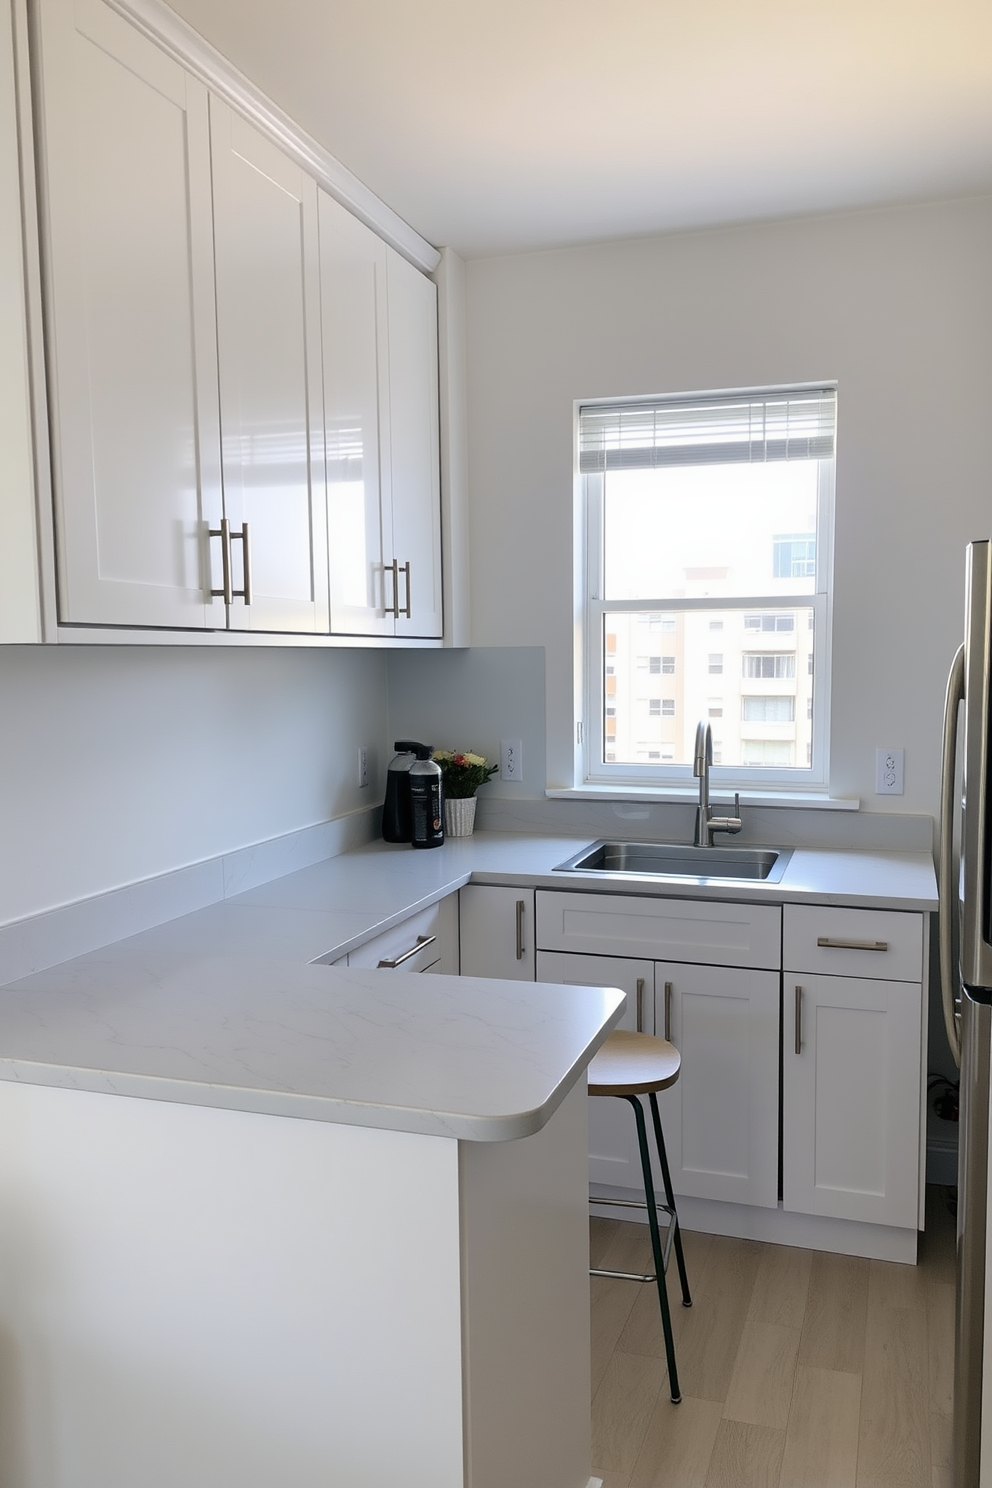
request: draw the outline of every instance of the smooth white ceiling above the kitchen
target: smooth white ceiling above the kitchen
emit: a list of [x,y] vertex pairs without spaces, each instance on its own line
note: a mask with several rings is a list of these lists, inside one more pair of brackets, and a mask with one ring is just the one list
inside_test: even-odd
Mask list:
[[992,0],[171,0],[468,257],[992,190]]

